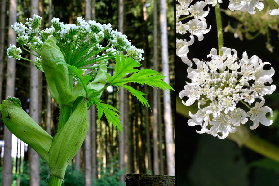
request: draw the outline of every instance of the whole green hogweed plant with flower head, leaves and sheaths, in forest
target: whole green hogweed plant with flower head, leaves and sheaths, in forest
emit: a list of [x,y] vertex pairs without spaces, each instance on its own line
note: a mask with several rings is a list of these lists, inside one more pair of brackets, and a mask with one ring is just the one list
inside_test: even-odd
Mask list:
[[[77,25],[64,24],[53,18],[51,28],[40,30],[41,19],[34,15],[27,19],[27,26],[17,22],[11,25],[21,48],[36,56],[36,60],[21,57],[21,49],[15,45],[10,45],[7,55],[31,61],[44,72],[50,95],[60,106],[57,134],[53,138],[44,131],[21,108],[17,98],[8,97],[0,108],[7,128],[47,162],[50,168],[48,185],[58,186],[63,181],[66,167],[85,139],[87,111],[93,104],[96,105],[99,122],[104,114],[108,123],[122,132],[119,111],[100,99],[102,91],[111,85],[123,87],[150,108],[143,96],[145,94],[127,83],[155,86],[167,92],[173,88],[162,81],[164,76],[160,73],[138,69],[141,66],[139,61],[144,59],[143,50],[131,45],[127,36],[112,30],[110,24],[102,25],[95,20],[87,23],[82,17],[77,18]],[[107,67],[108,62],[115,62],[114,68]],[[113,68],[114,73],[107,73],[108,68]],[[83,69],[92,71],[84,74]]]

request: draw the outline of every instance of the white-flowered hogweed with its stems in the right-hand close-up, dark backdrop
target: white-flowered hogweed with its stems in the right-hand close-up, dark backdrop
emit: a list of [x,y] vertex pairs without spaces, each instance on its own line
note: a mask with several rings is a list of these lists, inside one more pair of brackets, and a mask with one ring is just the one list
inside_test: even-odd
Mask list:
[[[245,12],[250,14],[247,22],[250,27],[260,27],[257,23],[258,14],[264,9],[263,0],[229,0],[230,11],[239,11],[238,15]],[[275,23],[279,15],[279,1],[265,0],[269,4],[268,23]],[[250,137],[250,133],[242,125],[250,121],[250,129],[256,129],[259,124],[269,126],[273,120],[268,119],[267,113],[273,116],[270,107],[265,106],[264,96],[272,94],[276,86],[272,85],[272,76],[275,71],[269,62],[263,62],[258,56],[248,57],[243,52],[242,58],[237,54],[237,50],[223,46],[223,33],[220,5],[222,0],[177,0],[176,1],[176,33],[188,35],[189,39],[176,40],[176,55],[179,56],[187,68],[190,82],[186,82],[184,89],[180,91],[179,97],[182,103],[190,106],[197,101],[197,113],[189,111],[188,125],[200,126],[197,133],[208,133],[220,139],[229,137],[239,145],[245,144],[252,150],[259,152],[279,162],[279,149],[264,142],[261,139]],[[218,50],[212,48],[208,59],[188,59],[187,54],[191,52],[190,46],[203,40],[204,35],[211,30],[211,26],[206,23],[206,16],[209,14],[210,7],[215,9]],[[271,9],[271,10],[270,10]],[[227,10],[228,11],[228,10]],[[226,12],[227,12],[226,11]],[[259,13],[260,14],[260,13]],[[260,14],[261,15],[261,14]],[[252,19],[253,18],[253,19]],[[265,29],[268,29],[268,24]],[[278,24],[272,24],[273,27]],[[271,26],[270,26],[271,27]],[[228,28],[226,28],[227,30]],[[267,31],[268,32],[268,31]],[[236,35],[236,34],[235,34]],[[267,47],[271,51],[270,47]],[[267,66],[266,66],[267,65]],[[267,70],[268,69],[268,70]],[[245,110],[242,109],[246,107]],[[237,132],[238,131],[238,132]],[[235,133],[235,135],[233,134]]]

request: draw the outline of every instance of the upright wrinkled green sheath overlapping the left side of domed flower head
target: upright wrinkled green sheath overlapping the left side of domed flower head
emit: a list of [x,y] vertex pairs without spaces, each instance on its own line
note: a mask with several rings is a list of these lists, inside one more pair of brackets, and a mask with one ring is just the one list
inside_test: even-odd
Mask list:
[[42,46],[42,67],[50,95],[61,106],[67,104],[72,96],[72,86],[69,83],[68,67],[56,64],[59,61],[64,61],[64,55],[56,45],[56,38],[51,36]]

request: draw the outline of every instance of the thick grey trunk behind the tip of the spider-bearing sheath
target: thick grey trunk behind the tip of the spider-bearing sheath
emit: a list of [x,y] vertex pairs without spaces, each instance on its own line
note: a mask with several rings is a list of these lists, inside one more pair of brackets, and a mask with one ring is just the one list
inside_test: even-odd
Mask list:
[[[16,22],[16,7],[17,0],[10,0],[9,8],[9,25]],[[16,33],[9,26],[8,30],[8,43],[13,45],[16,44]],[[15,95],[15,59],[8,58],[7,61],[7,78],[6,78],[6,95],[14,97]],[[11,139],[12,134],[4,126],[4,157],[3,157],[3,169],[2,169],[2,185],[9,186],[12,183],[12,158],[11,158]]]

